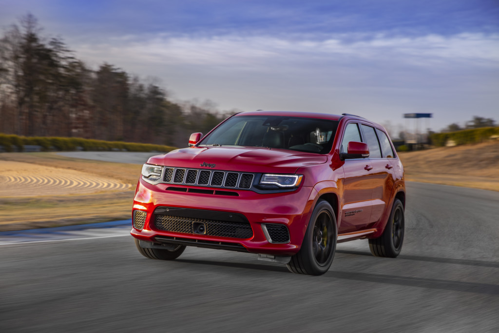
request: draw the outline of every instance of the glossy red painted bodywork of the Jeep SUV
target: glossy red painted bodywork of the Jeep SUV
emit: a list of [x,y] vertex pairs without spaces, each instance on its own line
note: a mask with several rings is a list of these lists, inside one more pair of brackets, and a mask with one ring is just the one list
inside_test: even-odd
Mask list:
[[[132,229],[133,237],[144,241],[154,241],[155,237],[180,237],[194,241],[240,244],[251,253],[293,255],[302,245],[312,211],[319,199],[327,200],[335,210],[338,236],[346,235],[342,239],[376,238],[381,235],[395,197],[400,192],[405,193],[402,163],[396,156],[393,145],[393,152],[389,156],[371,154],[366,158],[352,158],[353,155],[346,158],[342,153],[364,155],[369,153],[372,147],[368,148],[366,144],[367,134],[364,128],[369,126],[386,133],[382,126],[354,116],[277,111],[243,112],[230,117],[221,125],[231,121],[233,117],[245,116],[266,116],[268,119],[286,116],[333,121],[337,129],[335,133],[328,133],[318,128],[317,133],[311,131],[310,135],[305,137],[305,140],[312,140],[315,137],[317,142],[329,137],[328,140],[332,140],[331,150],[322,154],[312,151],[315,148],[306,145],[306,142],[300,142],[300,138],[289,136],[287,128],[279,128],[278,125],[273,127],[272,130],[276,135],[272,133],[274,137],[271,139],[280,140],[284,148],[228,145],[223,144],[223,139],[220,146],[218,144],[203,146],[203,142],[208,142],[207,138],[210,134],[216,133],[216,129],[202,139],[201,133],[193,134],[189,143],[196,143],[195,146],[153,156],[147,163],[170,168],[185,168],[186,172],[189,169],[197,169],[198,172],[232,171],[239,173],[239,177],[243,173],[253,174],[253,185],[249,189],[241,189],[186,182],[165,183],[161,179],[151,184],[141,177],[135,193],[134,209],[147,212],[147,218],[142,229]],[[361,142],[350,141],[348,151],[344,151],[342,140],[345,127],[350,123],[358,124]],[[291,140],[295,140],[296,145],[290,143]],[[290,147],[286,148],[287,144]],[[304,151],[306,149],[310,151]],[[263,174],[303,177],[296,188],[274,185],[265,187],[258,185]],[[291,177],[290,180],[282,181],[293,180]],[[230,192],[230,195],[227,193],[218,195],[217,191]],[[241,214],[250,223],[253,236],[249,239],[240,239],[158,230],[153,223],[153,212],[162,206]],[[289,242],[284,244],[270,242],[262,228],[262,224],[269,223],[286,226],[289,231]]]

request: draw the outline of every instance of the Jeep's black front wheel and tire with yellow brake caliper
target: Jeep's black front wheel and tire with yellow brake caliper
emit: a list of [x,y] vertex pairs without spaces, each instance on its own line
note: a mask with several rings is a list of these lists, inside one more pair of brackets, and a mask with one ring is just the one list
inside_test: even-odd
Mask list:
[[310,217],[300,251],[286,265],[298,274],[322,275],[329,270],[336,250],[338,231],[331,205],[319,200]]

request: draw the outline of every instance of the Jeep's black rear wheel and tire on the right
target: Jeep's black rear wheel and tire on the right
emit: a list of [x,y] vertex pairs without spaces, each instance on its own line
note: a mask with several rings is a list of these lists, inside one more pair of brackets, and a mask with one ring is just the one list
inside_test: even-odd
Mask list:
[[371,250],[372,255],[387,258],[397,257],[402,250],[402,243],[404,243],[404,225],[404,205],[399,199],[396,199],[385,231],[380,237],[369,240],[369,250]]

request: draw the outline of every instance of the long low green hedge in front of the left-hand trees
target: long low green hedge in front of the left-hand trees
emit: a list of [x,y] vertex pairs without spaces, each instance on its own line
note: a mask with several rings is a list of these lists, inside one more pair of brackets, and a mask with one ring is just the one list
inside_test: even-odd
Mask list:
[[5,151],[22,151],[24,145],[41,146],[43,151],[51,150],[126,150],[126,151],[159,151],[168,152],[175,147],[132,143],[121,141],[103,141],[89,140],[81,138],[62,138],[62,137],[26,137],[11,134],[0,133],[0,146],[3,146]]

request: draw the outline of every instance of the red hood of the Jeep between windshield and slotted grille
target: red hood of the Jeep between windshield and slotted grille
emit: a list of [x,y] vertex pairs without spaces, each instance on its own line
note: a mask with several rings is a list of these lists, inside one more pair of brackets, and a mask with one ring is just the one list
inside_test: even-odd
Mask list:
[[[222,146],[177,149],[153,156],[148,163],[195,169],[294,173],[300,167],[326,161],[326,155],[287,149]],[[276,168],[280,170],[276,171]]]

